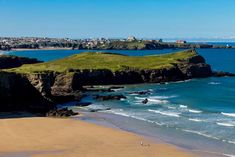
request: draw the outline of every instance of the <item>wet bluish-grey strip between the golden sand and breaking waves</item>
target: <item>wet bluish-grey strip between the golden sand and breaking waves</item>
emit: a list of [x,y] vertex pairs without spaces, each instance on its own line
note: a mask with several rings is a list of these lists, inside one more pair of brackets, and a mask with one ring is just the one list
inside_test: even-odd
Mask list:
[[[213,139],[210,139],[211,141],[207,142],[206,145],[200,146],[200,142],[203,144],[203,142],[205,141],[203,141],[204,137],[199,136],[199,135],[193,135],[193,138],[191,138],[188,141],[186,139],[192,136],[191,133],[178,135],[179,132],[177,132],[177,130],[170,131],[169,128],[164,129],[160,126],[158,127],[153,126],[153,128],[155,128],[154,130],[146,129],[146,128],[149,128],[150,123],[143,121],[141,119],[126,117],[126,116],[109,113],[109,112],[89,113],[85,110],[78,110],[78,111],[80,111],[80,113],[82,113],[83,116],[77,117],[77,118],[75,117],[74,119],[82,120],[88,123],[93,123],[99,126],[118,129],[121,131],[127,131],[130,133],[142,136],[145,139],[153,141],[154,143],[162,143],[166,145],[171,145],[180,150],[192,153],[197,156],[203,156],[203,157],[226,156],[225,153],[222,153],[219,151],[217,152],[216,149],[214,149],[214,145],[211,145],[210,143],[210,142],[212,143],[216,142]],[[145,128],[145,129],[142,129],[142,128]],[[195,145],[193,144],[193,142],[196,142],[199,145],[197,144]]]

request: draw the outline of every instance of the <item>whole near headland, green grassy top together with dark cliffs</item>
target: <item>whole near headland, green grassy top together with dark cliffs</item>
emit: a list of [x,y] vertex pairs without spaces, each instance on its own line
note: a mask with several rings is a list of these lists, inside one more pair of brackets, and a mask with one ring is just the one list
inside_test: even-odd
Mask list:
[[2,71],[0,100],[4,103],[0,110],[49,110],[56,103],[79,100],[84,85],[161,83],[209,76],[211,67],[194,50],[143,57],[82,53]]

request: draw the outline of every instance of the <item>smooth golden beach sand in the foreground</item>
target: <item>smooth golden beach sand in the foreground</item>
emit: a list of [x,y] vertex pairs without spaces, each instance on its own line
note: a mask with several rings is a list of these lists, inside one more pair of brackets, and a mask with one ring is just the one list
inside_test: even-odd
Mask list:
[[0,119],[0,157],[8,156],[193,157],[194,155],[171,145],[151,142],[133,133],[80,120],[35,117]]

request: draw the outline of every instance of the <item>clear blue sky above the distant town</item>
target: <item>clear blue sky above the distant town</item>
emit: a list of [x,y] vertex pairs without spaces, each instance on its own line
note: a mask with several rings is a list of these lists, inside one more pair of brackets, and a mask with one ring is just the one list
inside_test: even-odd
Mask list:
[[0,0],[0,36],[235,38],[235,0]]

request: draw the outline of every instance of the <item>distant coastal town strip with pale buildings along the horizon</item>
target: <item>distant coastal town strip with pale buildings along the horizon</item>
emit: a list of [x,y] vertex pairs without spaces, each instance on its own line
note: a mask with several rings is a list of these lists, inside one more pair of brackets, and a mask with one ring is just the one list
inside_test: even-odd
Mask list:
[[126,39],[69,39],[69,38],[38,38],[38,37],[0,37],[0,50],[17,49],[94,49],[94,50],[154,50],[167,48],[235,48],[229,45],[211,45],[205,43],[188,43],[185,40],[165,42],[162,39],[137,39],[129,36]]

